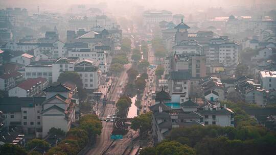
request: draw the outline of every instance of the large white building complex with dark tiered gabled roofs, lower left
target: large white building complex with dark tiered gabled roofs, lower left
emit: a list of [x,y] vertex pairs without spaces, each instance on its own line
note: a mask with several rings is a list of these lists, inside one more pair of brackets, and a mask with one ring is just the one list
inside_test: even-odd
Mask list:
[[75,88],[63,85],[44,89],[45,97],[4,97],[0,98],[0,110],[5,116],[8,128],[22,127],[26,134],[36,134],[38,138],[48,135],[52,127],[67,132],[71,123],[78,120],[73,98]]

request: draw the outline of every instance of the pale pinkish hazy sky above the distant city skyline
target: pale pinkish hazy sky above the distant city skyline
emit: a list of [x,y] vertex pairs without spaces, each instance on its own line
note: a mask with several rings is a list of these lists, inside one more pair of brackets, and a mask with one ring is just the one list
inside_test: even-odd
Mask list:
[[[255,0],[256,4],[276,4],[276,0]],[[21,7],[35,11],[37,6],[41,11],[58,10],[65,12],[73,4],[97,4],[107,3],[109,8],[116,9],[118,5],[129,7],[131,5],[143,5],[146,9],[168,9],[174,10],[187,9],[191,7],[209,8],[209,7],[233,7],[246,6],[251,7],[254,0],[0,0],[0,8]],[[124,6],[120,6],[124,7]]]

